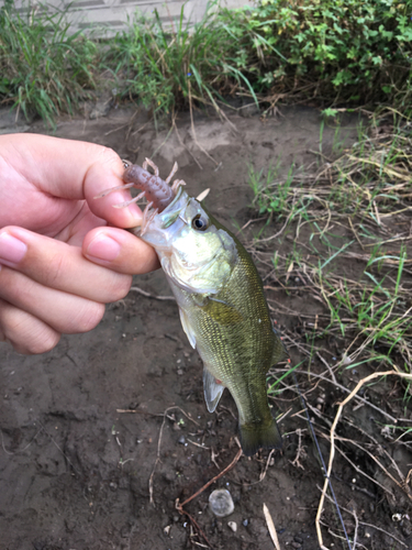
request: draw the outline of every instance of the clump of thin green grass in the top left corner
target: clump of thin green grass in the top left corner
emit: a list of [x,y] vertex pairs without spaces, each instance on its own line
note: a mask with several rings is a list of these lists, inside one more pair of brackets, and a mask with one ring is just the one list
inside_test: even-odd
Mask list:
[[97,46],[70,34],[65,12],[37,6],[21,15],[12,2],[0,10],[0,95],[2,102],[38,113],[51,125],[73,112],[94,86]]

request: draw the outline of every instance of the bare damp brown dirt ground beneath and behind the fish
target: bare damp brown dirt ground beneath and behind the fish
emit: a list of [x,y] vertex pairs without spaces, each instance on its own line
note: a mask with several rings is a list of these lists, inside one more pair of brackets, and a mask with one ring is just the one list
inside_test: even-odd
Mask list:
[[[282,108],[280,116],[266,121],[253,113],[231,114],[229,120],[199,116],[193,134],[189,116],[182,114],[178,133],[169,133],[167,127],[156,132],[144,116],[118,109],[96,120],[62,120],[56,135],[113,147],[122,158],[137,163],[152,157],[160,175],[167,175],[177,161],[178,176],[187,182],[189,194],[210,187],[208,208],[236,231],[255,216],[249,209],[247,164],[257,170],[279,160],[283,170],[292,162],[296,167],[309,166],[316,161],[313,151],[319,151],[321,117],[315,109],[294,107]],[[356,140],[356,118],[343,122],[341,141]],[[29,130],[46,133],[40,122]],[[334,140],[334,128],[325,127],[325,154]],[[281,226],[272,223],[270,231]],[[282,244],[292,245],[290,238]],[[268,251],[272,254],[274,249]],[[270,267],[258,263],[258,268],[270,285]],[[136,276],[134,285],[152,296],[170,295],[162,272]],[[325,312],[322,304],[299,288],[289,296],[277,292],[276,300],[312,320]],[[297,334],[303,326],[296,317],[275,317],[281,331]],[[327,361],[336,361],[339,342],[324,342],[324,348]],[[302,360],[299,348],[290,352],[292,364]],[[269,550],[274,543],[264,504],[282,550],[319,548],[314,521],[324,475],[302,404],[291,389],[272,402],[285,414],[282,451],[241,457],[230,472],[185,506],[204,537],[188,515],[176,509],[176,501],[183,502],[218,475],[238,447],[237,411],[229,393],[215,414],[207,411],[201,362],[186,339],[172,300],[131,290],[124,300],[107,307],[97,329],[62,338],[49,353],[23,356],[0,344],[0,549]],[[338,383],[352,389],[371,372],[368,369],[336,373]],[[311,372],[324,371],[315,359]],[[307,392],[314,426],[327,431],[336,403],[347,394],[321,378],[310,384],[308,376],[298,375],[298,380]],[[294,386],[293,380],[288,383]],[[397,416],[393,404],[388,409],[391,387],[382,383],[381,393],[370,393],[368,399]],[[375,438],[370,453],[382,447],[408,473],[409,449],[383,438],[379,428],[383,418],[377,409],[355,405],[345,414]],[[316,417],[320,409],[322,420]],[[401,414],[411,418],[408,410]],[[339,435],[350,436],[347,428]],[[319,441],[327,463],[329,441]],[[352,465],[337,453],[332,475],[348,536],[357,532],[357,548],[412,548],[410,501],[372,458],[356,450],[348,455]],[[209,495],[218,487],[227,488],[234,499],[234,513],[223,519],[208,507]],[[235,530],[229,521],[236,524]],[[347,548],[329,501],[322,525],[329,548]]]

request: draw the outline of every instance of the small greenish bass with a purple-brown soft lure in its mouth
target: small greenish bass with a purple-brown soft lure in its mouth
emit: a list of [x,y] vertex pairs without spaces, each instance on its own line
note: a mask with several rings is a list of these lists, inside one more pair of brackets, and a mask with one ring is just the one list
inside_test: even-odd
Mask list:
[[[183,190],[185,182],[177,179],[169,186],[176,170],[175,163],[163,182],[148,158],[143,167],[126,165],[125,186],[143,189],[140,196],[149,195],[142,224],[131,231],[158,255],[182,329],[203,362],[209,413],[216,409],[227,388],[238,411],[243,453],[252,457],[259,449],[280,449],[282,439],[268,405],[266,374],[288,354],[272,327],[260,276],[232,231]],[[160,189],[160,182],[167,189],[154,193],[154,188]]]

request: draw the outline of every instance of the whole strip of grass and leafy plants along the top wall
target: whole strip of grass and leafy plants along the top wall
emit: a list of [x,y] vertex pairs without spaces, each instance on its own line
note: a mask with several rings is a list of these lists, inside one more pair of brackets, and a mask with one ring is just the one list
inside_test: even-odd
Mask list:
[[196,25],[181,10],[166,29],[155,10],[152,19],[136,14],[114,38],[93,41],[71,34],[65,12],[38,4],[23,16],[7,0],[0,36],[1,101],[48,123],[76,110],[86,89],[103,86],[107,69],[118,97],[156,119],[202,106],[224,116],[229,97],[269,112],[278,94],[315,98],[325,118],[339,102],[407,113],[412,105],[407,2],[261,0],[225,10],[214,0]]

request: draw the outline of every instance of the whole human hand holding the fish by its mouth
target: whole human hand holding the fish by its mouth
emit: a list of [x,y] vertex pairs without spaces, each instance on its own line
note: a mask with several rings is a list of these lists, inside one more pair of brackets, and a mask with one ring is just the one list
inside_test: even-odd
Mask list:
[[[114,151],[45,135],[0,135],[0,340],[21,353],[86,332],[132,274],[158,266],[154,250],[119,228],[138,226]],[[115,227],[108,227],[107,223]]]

